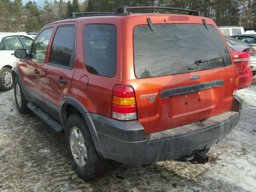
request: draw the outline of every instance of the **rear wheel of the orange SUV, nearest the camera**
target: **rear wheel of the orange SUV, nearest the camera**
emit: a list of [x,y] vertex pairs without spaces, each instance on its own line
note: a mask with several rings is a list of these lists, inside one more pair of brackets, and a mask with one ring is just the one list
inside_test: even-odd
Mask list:
[[[65,138],[71,164],[80,178],[86,181],[92,180],[107,171],[109,160],[98,155],[89,128],[82,116],[70,115],[65,128]],[[79,154],[81,154],[80,158]]]

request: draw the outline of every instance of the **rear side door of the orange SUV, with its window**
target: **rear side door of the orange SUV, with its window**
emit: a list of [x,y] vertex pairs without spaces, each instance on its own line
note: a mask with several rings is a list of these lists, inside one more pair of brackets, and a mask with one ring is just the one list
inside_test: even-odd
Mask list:
[[75,70],[76,22],[56,28],[47,63],[42,68],[44,102],[59,115],[62,98],[68,96]]

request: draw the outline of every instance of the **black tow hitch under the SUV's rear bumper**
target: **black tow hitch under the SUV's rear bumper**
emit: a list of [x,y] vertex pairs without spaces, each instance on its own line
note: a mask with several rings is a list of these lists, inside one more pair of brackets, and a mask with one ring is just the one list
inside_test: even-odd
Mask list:
[[182,156],[178,159],[176,159],[176,161],[180,161],[180,162],[191,162],[193,164],[206,164],[208,163],[208,155],[206,155],[206,153],[209,151],[210,148],[206,149],[206,150],[201,150],[199,152],[197,152],[196,154],[192,154],[190,156]]

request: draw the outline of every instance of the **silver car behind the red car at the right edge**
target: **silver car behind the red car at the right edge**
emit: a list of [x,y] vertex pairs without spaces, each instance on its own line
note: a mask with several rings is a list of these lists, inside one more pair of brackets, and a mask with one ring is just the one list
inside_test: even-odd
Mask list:
[[237,51],[247,52],[250,54],[250,68],[253,76],[256,75],[256,45],[247,44],[241,40],[232,37],[226,37],[228,45]]

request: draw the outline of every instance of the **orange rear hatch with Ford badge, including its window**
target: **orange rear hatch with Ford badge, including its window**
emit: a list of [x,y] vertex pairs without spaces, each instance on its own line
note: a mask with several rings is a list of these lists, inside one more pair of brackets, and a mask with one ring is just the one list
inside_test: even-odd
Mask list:
[[153,30],[150,24],[134,27],[136,80],[129,84],[146,133],[231,109],[236,68],[216,26],[197,18],[200,24],[154,24],[152,18]]

